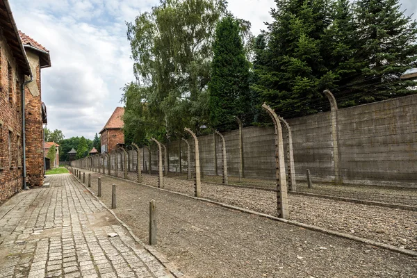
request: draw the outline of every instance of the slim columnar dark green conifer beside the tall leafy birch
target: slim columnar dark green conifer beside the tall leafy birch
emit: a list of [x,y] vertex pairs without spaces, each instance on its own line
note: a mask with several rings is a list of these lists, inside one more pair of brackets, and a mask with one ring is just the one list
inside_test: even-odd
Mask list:
[[250,63],[240,34],[240,22],[231,15],[218,22],[213,43],[209,111],[215,129],[236,129],[238,116],[252,122],[250,99]]

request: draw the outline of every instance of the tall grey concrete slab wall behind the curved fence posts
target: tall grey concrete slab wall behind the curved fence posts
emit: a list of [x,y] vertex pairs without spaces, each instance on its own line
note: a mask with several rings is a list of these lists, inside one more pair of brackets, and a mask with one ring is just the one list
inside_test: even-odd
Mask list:
[[[389,185],[417,188],[417,95],[343,108],[337,111],[337,142],[343,183]],[[297,180],[306,179],[309,169],[315,181],[335,179],[334,140],[330,112],[289,119],[293,133],[293,152]],[[287,134],[284,154],[287,161]],[[227,169],[239,175],[239,132],[222,133],[226,140]],[[222,143],[219,136],[201,136],[199,152],[203,175],[222,174]],[[191,169],[194,172],[194,142],[190,143]],[[170,172],[187,172],[187,146],[169,142]],[[181,166],[179,163],[181,149]],[[157,168],[157,147],[151,147],[152,170]],[[136,169],[136,152],[129,152]],[[145,158],[143,157],[145,154]],[[217,159],[215,159],[217,158]],[[149,169],[149,152],[140,150],[142,169]],[[243,173],[246,178],[275,178],[275,134],[273,127],[243,128]],[[287,167],[287,165],[286,165]],[[181,168],[181,169],[180,169]],[[287,171],[288,174],[288,171]]]

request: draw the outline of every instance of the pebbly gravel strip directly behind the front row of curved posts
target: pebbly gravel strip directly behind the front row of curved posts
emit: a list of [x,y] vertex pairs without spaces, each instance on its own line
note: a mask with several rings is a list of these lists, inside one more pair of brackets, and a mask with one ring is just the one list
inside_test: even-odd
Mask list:
[[[158,186],[158,178],[144,174],[143,183]],[[194,195],[193,181],[164,177],[164,184],[169,190]],[[277,216],[274,192],[203,182],[202,197]],[[416,211],[300,195],[288,195],[288,203],[291,220],[417,251]]]

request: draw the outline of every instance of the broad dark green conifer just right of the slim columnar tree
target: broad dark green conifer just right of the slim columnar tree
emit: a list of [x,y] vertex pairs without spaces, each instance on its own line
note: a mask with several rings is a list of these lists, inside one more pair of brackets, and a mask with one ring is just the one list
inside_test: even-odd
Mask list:
[[[331,25],[331,7],[327,0],[275,1],[274,19],[263,39],[266,46],[257,49],[256,79],[252,89],[256,97],[279,113],[293,116],[316,113],[311,100],[334,87],[336,74],[323,57],[323,37]],[[289,113],[287,113],[289,115]]]

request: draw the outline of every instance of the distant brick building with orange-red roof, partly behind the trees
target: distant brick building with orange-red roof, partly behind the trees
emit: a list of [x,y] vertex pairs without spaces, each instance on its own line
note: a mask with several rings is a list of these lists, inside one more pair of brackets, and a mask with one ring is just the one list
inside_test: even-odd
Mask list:
[[115,111],[108,119],[106,125],[101,129],[100,142],[101,142],[101,154],[104,152],[111,152],[117,145],[124,145],[124,133],[123,133],[123,115],[124,108],[116,107]]

